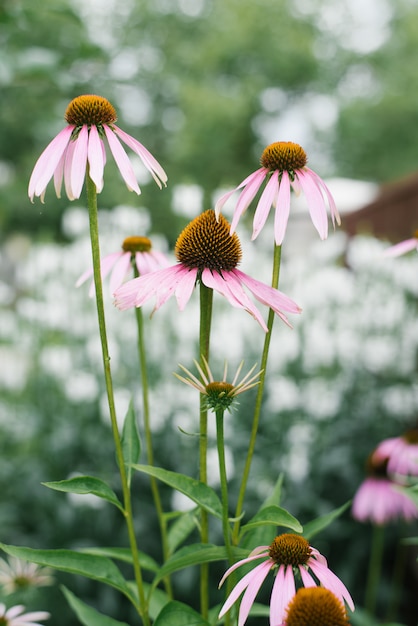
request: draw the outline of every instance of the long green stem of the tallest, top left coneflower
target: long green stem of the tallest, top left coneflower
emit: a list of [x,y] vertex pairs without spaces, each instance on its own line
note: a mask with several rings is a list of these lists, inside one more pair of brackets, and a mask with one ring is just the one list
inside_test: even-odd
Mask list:
[[92,251],[92,258],[93,258],[93,276],[94,276],[94,285],[95,285],[95,290],[96,290],[97,317],[98,317],[98,322],[99,322],[100,342],[102,346],[104,377],[105,377],[105,384],[106,384],[106,393],[107,393],[107,401],[108,401],[108,406],[109,406],[112,434],[113,434],[113,439],[115,443],[116,459],[117,459],[118,466],[119,466],[120,480],[121,480],[121,486],[122,486],[124,516],[125,516],[125,521],[126,521],[126,526],[127,526],[128,536],[129,536],[129,544],[130,544],[131,553],[132,553],[135,581],[136,581],[136,586],[137,586],[137,591],[138,591],[139,605],[136,607],[136,609],[142,618],[144,626],[150,626],[148,607],[147,607],[146,600],[145,600],[145,592],[144,592],[144,585],[143,585],[143,580],[142,580],[141,566],[139,563],[138,547],[137,547],[135,531],[134,531],[131,494],[130,494],[130,489],[128,485],[127,475],[126,475],[125,461],[123,458],[122,442],[121,442],[117,418],[116,418],[115,398],[114,398],[114,393],[113,393],[112,373],[111,373],[111,368],[110,368],[110,356],[109,356],[109,347],[108,347],[108,341],[107,341],[106,322],[105,322],[105,314],[104,314],[103,288],[102,288],[102,279],[101,279],[101,274],[100,274],[100,245],[99,245],[99,223],[98,223],[98,216],[97,216],[97,191],[96,191],[96,185],[91,180],[88,172],[86,176],[86,187],[87,187],[87,207],[89,211],[89,220],[90,220],[91,251]]

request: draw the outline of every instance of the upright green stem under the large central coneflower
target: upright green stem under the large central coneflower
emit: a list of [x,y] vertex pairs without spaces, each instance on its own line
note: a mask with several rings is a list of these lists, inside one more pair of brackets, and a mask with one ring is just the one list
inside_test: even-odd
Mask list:
[[[204,359],[209,363],[210,328],[212,322],[213,290],[200,283],[200,331],[199,354],[200,365],[205,367]],[[199,438],[199,477],[207,484],[207,451],[208,451],[208,411],[205,396],[200,395],[200,438]],[[209,542],[209,519],[207,511],[201,510],[200,539],[202,543]],[[200,567],[200,606],[204,619],[209,614],[209,566],[203,563]]]

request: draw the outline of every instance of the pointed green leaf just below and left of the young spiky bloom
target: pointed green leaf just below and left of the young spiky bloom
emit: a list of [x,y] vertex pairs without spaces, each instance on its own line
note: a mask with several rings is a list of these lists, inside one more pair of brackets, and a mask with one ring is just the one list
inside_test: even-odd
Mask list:
[[208,513],[220,519],[222,518],[222,504],[216,492],[208,485],[205,485],[205,483],[184,474],[170,472],[161,467],[153,467],[151,465],[133,465],[132,467],[138,470],[138,472],[144,472],[158,478],[166,485],[184,493],[185,496],[188,496]]

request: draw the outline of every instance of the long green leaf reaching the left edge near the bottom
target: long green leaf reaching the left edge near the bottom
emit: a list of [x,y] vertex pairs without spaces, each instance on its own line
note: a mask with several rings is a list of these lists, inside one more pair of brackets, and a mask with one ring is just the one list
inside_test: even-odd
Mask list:
[[9,546],[0,543],[0,548],[7,554],[19,559],[52,567],[70,574],[79,574],[122,592],[136,606],[135,596],[120,570],[107,557],[76,552],[75,550],[35,550],[21,546]]

